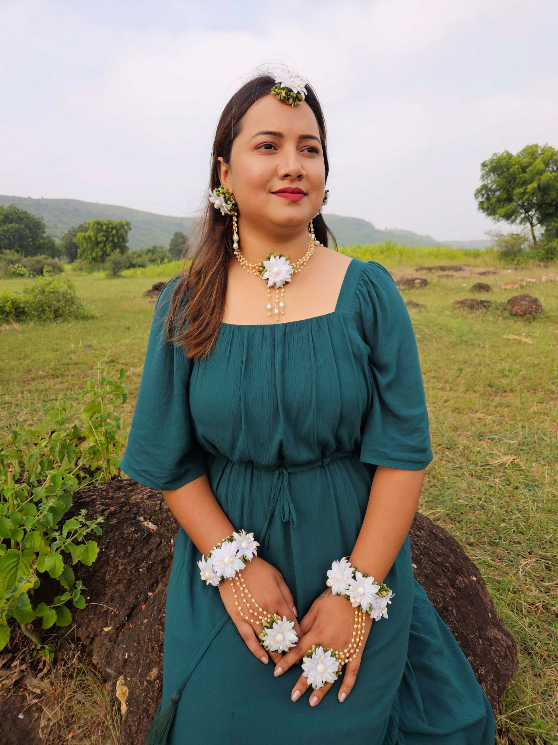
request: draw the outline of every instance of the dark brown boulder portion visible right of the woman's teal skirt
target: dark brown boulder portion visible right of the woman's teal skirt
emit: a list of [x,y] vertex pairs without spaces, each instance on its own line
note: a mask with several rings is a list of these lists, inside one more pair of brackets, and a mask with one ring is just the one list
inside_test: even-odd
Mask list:
[[471,663],[494,711],[516,673],[517,643],[498,615],[478,567],[440,525],[417,513],[414,576]]

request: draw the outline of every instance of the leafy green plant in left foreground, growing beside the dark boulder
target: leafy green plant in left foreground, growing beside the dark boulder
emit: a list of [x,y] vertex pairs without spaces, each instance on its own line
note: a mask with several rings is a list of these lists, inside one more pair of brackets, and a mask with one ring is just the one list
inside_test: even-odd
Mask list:
[[[86,606],[86,588],[72,566],[92,565],[97,557],[94,534],[102,518],[86,519],[86,510],[65,519],[74,492],[90,481],[109,481],[118,472],[124,448],[121,406],[126,402],[124,369],[97,365],[82,395],[83,425],[70,425],[65,406],[48,414],[37,429],[6,428],[0,441],[0,650],[10,639],[10,619],[52,657],[28,624],[42,618],[42,628],[71,624],[70,600]],[[49,602],[33,606],[33,592],[48,574],[62,586]]]

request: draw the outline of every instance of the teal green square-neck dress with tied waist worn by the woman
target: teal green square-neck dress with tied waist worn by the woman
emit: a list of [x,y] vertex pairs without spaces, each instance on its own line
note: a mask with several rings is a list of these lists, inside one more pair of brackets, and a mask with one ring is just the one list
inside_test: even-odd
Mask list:
[[[380,264],[352,259],[332,313],[223,323],[208,357],[192,362],[164,340],[176,282],[155,307],[121,468],[153,489],[207,473],[302,618],[333,559],[356,542],[375,467],[432,460],[407,309]],[[317,708],[290,699],[300,665],[275,678],[248,652],[219,592],[200,579],[199,558],[180,528],[159,707],[173,697],[169,745],[494,744],[490,704],[414,580],[408,536],[385,580],[395,593],[389,618],[373,624],[353,692],[339,703],[336,683]]]

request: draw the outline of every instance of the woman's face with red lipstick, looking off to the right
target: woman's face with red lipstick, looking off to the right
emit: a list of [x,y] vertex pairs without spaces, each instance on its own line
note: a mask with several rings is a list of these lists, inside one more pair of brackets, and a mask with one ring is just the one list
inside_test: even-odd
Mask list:
[[290,107],[260,98],[242,120],[220,179],[234,194],[242,221],[303,226],[324,198],[325,166],[318,122],[306,103]]

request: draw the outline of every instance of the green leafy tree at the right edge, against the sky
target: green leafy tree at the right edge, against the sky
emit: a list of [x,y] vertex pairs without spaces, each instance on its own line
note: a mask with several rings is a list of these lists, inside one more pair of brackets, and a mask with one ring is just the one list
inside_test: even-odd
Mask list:
[[527,145],[516,155],[494,153],[481,163],[475,198],[493,220],[528,224],[537,247],[536,228],[558,218],[558,150]]

